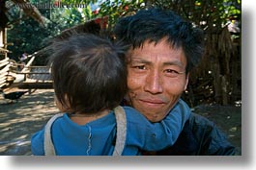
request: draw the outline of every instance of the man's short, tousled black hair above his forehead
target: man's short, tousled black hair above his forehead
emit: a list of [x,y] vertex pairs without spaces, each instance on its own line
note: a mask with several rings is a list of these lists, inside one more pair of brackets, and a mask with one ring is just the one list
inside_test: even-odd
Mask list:
[[186,72],[197,65],[204,53],[204,33],[175,12],[149,9],[121,18],[114,29],[118,40],[140,48],[147,40],[157,43],[167,38],[174,48],[185,52]]

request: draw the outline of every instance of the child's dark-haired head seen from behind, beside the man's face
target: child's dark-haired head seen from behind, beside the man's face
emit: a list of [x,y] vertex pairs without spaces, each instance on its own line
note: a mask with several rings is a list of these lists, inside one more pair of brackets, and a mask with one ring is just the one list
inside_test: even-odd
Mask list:
[[110,40],[73,35],[50,46],[57,101],[68,112],[113,109],[127,92],[125,52]]

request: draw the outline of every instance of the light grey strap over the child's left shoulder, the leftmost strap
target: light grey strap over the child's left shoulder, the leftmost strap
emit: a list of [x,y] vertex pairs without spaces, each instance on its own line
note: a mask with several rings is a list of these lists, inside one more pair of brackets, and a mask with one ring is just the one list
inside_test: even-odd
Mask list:
[[52,139],[51,139],[51,125],[52,123],[59,117],[63,116],[64,113],[58,113],[54,116],[52,116],[47,124],[45,125],[45,129],[44,129],[44,155],[45,156],[56,156],[55,153],[55,149],[52,143]]

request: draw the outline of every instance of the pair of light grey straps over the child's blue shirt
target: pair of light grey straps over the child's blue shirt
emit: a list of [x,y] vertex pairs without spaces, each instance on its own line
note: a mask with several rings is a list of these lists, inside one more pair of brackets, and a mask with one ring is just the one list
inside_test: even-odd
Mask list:
[[[122,107],[114,109],[116,120],[117,120],[117,138],[116,145],[114,148],[113,156],[122,156],[123,150],[126,144],[127,138],[127,117],[126,112]],[[59,117],[63,116],[64,113],[58,113],[51,117],[44,130],[44,154],[45,156],[56,156],[54,145],[51,139],[51,126],[52,123]]]

